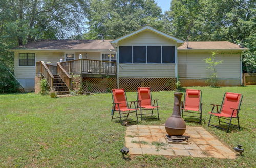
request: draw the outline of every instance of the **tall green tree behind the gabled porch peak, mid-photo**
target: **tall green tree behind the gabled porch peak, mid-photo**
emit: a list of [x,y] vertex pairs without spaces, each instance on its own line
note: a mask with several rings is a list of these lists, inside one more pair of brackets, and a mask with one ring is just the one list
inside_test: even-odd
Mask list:
[[144,25],[162,29],[161,8],[154,0],[91,0],[87,39],[114,39]]

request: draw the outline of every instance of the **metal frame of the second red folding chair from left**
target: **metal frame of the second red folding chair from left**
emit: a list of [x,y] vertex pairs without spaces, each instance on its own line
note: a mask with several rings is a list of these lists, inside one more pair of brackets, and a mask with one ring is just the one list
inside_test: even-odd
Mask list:
[[[153,104],[152,107],[157,107],[156,109],[157,109],[157,116],[158,117],[157,118],[147,118],[147,119],[144,119],[144,120],[148,120],[148,119],[158,119],[159,120],[159,107],[158,107],[158,100],[159,99],[152,99],[151,89],[149,89],[149,90],[150,90],[151,104]],[[143,108],[143,107],[140,106],[141,100],[139,100],[138,88],[137,88],[137,100],[138,100],[137,108],[140,108],[140,118],[141,118],[141,121],[143,120],[142,119],[142,115],[151,115],[151,116],[153,116],[153,112],[154,112],[155,108],[152,108],[152,109],[148,108],[148,109],[146,109],[146,108]],[[152,103],[152,101],[154,101],[154,102]],[[155,106],[155,103],[156,103],[157,106]],[[144,113],[144,114],[142,114],[142,110],[152,110],[152,112],[151,113]]]

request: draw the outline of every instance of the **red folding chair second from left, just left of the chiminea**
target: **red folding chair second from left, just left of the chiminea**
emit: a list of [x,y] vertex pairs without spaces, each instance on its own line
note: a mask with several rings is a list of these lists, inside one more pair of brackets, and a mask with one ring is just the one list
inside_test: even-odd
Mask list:
[[[153,116],[154,109],[157,109],[157,118],[147,118],[147,119],[158,119],[159,120],[159,111],[158,111],[158,99],[152,100],[152,95],[150,88],[148,87],[140,87],[137,88],[137,100],[138,100],[138,106],[137,108],[140,108],[140,117],[142,120],[142,115],[151,115]],[[152,105],[152,101],[153,105]],[[156,104],[156,106],[155,106]],[[151,113],[145,113],[142,114],[142,110],[152,110]]]

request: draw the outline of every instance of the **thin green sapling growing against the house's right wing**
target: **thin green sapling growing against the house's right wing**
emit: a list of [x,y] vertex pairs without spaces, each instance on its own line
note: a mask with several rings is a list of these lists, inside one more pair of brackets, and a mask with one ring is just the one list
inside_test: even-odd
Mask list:
[[212,87],[217,87],[216,66],[218,64],[221,64],[223,60],[215,61],[216,52],[211,52],[211,53],[212,54],[210,57],[203,60],[207,64],[206,69],[209,69],[212,72],[211,76],[205,81],[205,83]]

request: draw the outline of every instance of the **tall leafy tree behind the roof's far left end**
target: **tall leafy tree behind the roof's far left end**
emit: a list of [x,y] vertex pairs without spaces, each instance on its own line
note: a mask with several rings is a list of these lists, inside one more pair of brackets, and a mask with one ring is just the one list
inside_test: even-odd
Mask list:
[[13,54],[7,49],[14,46],[80,33],[87,7],[86,0],[1,0],[1,63],[13,69]]

